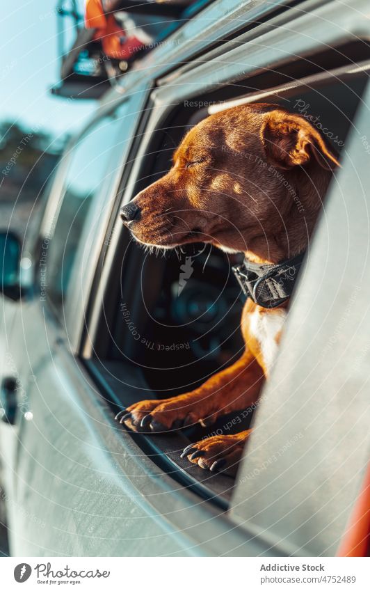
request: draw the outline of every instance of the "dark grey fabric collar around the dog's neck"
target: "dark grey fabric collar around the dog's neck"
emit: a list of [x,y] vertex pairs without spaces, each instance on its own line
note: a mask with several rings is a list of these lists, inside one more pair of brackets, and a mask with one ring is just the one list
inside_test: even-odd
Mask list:
[[259,265],[245,258],[232,271],[246,297],[263,308],[276,308],[291,297],[304,256],[300,253],[278,265]]

